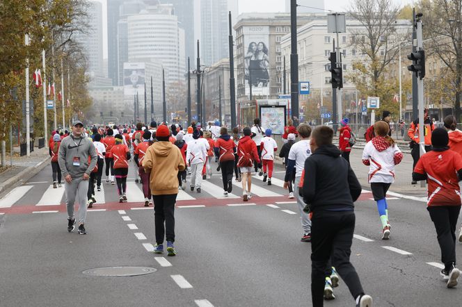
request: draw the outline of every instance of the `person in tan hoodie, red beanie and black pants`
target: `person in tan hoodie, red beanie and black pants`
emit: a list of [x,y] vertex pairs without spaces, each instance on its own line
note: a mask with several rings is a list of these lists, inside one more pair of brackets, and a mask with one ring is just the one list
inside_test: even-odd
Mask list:
[[[178,171],[185,168],[180,149],[169,142],[170,131],[160,125],[156,131],[158,142],[146,151],[143,160],[145,172],[150,172],[150,190],[154,200],[154,227],[156,246],[154,253],[164,252],[164,236],[167,240],[168,256],[177,252],[175,242],[175,202],[178,194]],[[165,224],[165,225],[164,225]]]

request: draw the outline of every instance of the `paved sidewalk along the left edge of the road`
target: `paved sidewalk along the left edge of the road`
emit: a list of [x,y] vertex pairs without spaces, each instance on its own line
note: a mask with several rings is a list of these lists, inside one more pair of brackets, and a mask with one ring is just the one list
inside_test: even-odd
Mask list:
[[13,186],[31,179],[49,163],[48,149],[34,148],[31,156],[19,156],[13,153],[13,167],[10,166],[10,153],[6,155],[6,167],[0,167],[0,194]]

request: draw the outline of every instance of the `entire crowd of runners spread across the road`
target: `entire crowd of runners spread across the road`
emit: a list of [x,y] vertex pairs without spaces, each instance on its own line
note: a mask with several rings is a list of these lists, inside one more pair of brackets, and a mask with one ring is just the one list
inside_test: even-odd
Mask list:
[[[368,182],[379,212],[382,240],[390,240],[392,226],[386,194],[395,181],[395,166],[403,158],[390,136],[390,118],[390,113],[384,111],[382,120],[367,129],[362,158],[369,167]],[[422,157],[416,156],[414,149],[419,146],[419,123],[414,121],[408,131],[415,159],[413,183],[427,180],[429,185],[427,209],[436,227],[445,265],[441,275],[447,280],[447,287],[453,288],[460,274],[455,267],[455,231],[461,208],[462,132],[456,129],[452,115],[445,118],[446,128],[434,128],[431,124],[427,127],[427,122],[425,125],[429,152]],[[349,165],[356,138],[347,118],[342,119],[339,127],[336,146],[332,128],[317,126],[312,130],[308,124],[295,127],[289,120],[278,156],[284,159],[287,197],[295,198],[298,204],[301,241],[312,242],[313,306],[322,306],[323,299],[335,299],[333,288],[340,275],[356,305],[370,307],[372,298],[365,294],[349,262],[355,225],[353,202],[362,190]],[[104,182],[117,185],[120,203],[130,201],[127,177],[131,172],[134,181],[143,185],[144,206],[154,205],[154,252],[164,252],[166,239],[169,256],[176,254],[174,208],[179,190],[200,193],[202,182],[214,172],[211,162],[215,160],[223,196],[232,192],[234,177],[242,185],[242,200],[248,201],[253,197],[253,172],[271,185],[277,151],[271,129],[262,128],[258,118],[253,126],[241,130],[230,130],[219,122],[203,127],[194,122],[187,127],[151,122],[83,128],[83,123],[77,121],[72,133],[54,131],[49,140],[53,187],[61,188],[62,177],[65,178],[68,231],[74,230],[77,223],[73,211],[77,199],[79,233],[86,234],[86,208],[97,204],[95,190],[101,191]],[[189,181],[187,174],[191,175]],[[462,231],[459,241],[462,242]]]

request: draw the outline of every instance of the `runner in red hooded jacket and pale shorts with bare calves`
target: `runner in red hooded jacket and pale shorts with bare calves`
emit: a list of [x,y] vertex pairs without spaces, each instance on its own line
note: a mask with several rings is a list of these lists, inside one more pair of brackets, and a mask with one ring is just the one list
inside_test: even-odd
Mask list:
[[244,128],[242,131],[244,137],[239,140],[237,145],[237,152],[239,154],[239,160],[237,166],[241,170],[242,177],[242,199],[248,201],[252,198],[252,169],[254,163],[260,163],[260,158],[258,158],[257,145],[250,138],[252,131],[249,127]]

